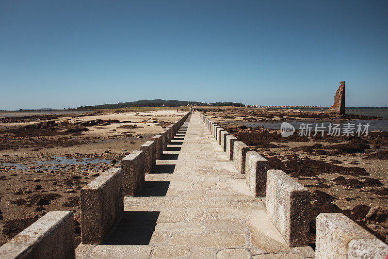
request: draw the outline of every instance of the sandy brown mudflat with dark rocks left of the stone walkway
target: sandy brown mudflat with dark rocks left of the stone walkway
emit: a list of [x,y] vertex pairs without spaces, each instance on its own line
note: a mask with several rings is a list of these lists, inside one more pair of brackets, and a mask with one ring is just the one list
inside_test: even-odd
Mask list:
[[133,108],[0,118],[0,245],[50,210],[75,215],[79,194],[187,108]]

